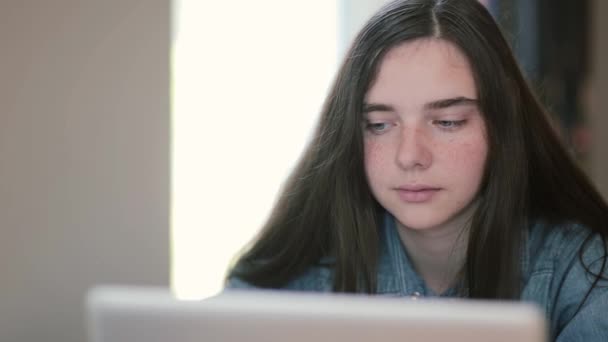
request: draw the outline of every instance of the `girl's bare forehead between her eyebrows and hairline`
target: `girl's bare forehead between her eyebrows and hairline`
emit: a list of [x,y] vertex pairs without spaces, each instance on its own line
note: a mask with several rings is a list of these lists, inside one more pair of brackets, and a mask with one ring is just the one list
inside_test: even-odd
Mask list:
[[454,44],[437,38],[400,44],[380,61],[366,102],[424,103],[441,98],[476,98],[469,61]]

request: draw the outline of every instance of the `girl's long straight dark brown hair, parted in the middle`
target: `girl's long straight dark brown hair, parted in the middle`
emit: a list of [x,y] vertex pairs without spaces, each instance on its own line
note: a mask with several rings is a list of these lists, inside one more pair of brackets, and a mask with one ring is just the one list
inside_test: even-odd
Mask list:
[[500,29],[476,0],[395,1],[369,20],[338,72],[313,140],[229,278],[280,288],[329,257],[334,291],[375,292],[383,209],[364,172],[363,99],[387,51],[420,38],[449,41],[468,58],[486,123],[488,159],[463,268],[468,296],[520,296],[520,241],[537,220],[588,227],[581,262],[592,234],[600,234],[604,257],[594,274],[600,279],[608,206],[561,144]]

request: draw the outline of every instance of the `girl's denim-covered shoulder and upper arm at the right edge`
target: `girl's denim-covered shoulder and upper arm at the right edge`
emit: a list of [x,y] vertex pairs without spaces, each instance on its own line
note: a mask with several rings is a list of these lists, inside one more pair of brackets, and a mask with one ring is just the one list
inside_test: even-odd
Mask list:
[[[528,253],[524,292],[545,307],[557,341],[608,340],[608,315],[602,313],[608,308],[602,236],[577,224],[537,225],[530,231]],[[595,282],[597,275],[605,280]]]

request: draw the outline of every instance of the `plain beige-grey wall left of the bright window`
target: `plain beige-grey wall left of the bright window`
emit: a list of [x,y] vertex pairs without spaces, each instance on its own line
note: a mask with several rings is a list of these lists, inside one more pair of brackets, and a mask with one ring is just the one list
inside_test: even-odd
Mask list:
[[168,284],[169,0],[0,3],[0,341],[84,341]]

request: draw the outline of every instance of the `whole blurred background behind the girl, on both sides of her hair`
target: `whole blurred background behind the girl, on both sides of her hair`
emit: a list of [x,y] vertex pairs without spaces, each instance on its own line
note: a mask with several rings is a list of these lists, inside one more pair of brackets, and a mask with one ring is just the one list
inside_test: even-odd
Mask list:
[[[0,2],[0,341],[84,341],[96,284],[218,291],[384,2]],[[483,2],[608,197],[608,3]]]

